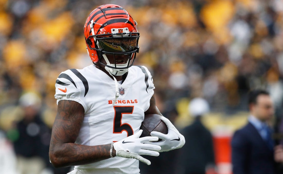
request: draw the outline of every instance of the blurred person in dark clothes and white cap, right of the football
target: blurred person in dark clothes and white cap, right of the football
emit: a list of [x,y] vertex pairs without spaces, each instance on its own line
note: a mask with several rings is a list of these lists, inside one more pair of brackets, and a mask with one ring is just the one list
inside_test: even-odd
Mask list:
[[182,130],[189,143],[177,149],[174,173],[215,173],[212,135],[201,122],[201,118],[209,111],[209,104],[203,98],[194,98],[190,101],[188,109],[194,121]]

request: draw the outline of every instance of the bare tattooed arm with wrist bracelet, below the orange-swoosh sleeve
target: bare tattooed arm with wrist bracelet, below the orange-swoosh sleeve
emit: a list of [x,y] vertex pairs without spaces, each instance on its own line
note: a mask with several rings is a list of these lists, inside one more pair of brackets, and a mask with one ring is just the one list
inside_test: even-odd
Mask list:
[[[53,166],[78,166],[110,158],[111,144],[96,146],[75,144],[83,118],[84,109],[78,102],[70,100],[58,102],[49,149]],[[113,156],[116,156],[114,148]]]

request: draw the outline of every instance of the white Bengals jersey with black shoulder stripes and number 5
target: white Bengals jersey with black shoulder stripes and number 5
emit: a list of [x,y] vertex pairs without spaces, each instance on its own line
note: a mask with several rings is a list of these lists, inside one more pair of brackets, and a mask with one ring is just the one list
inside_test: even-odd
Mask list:
[[[102,145],[130,136],[140,130],[144,112],[153,95],[153,80],[145,66],[131,66],[115,98],[115,82],[94,65],[62,72],[56,80],[55,98],[80,103],[85,117],[76,143]],[[110,149],[109,149],[110,150]],[[139,161],[114,157],[92,164],[75,166],[82,173],[139,173]]]

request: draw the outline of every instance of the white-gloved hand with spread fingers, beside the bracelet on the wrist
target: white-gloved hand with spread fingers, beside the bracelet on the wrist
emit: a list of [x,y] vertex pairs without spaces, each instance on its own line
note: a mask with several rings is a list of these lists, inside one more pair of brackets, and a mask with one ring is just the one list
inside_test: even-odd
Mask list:
[[140,155],[158,156],[159,153],[157,151],[159,151],[161,147],[159,145],[146,144],[146,142],[157,141],[158,138],[151,136],[139,138],[141,133],[142,130],[139,130],[136,134],[113,143],[116,156],[135,158],[150,165],[151,162]]

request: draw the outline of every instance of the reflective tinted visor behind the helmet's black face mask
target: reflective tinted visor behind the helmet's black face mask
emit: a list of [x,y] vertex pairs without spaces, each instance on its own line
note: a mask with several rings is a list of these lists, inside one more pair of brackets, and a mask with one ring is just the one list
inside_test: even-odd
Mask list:
[[137,46],[137,38],[119,38],[98,40],[99,48],[104,51],[121,53],[133,51]]

